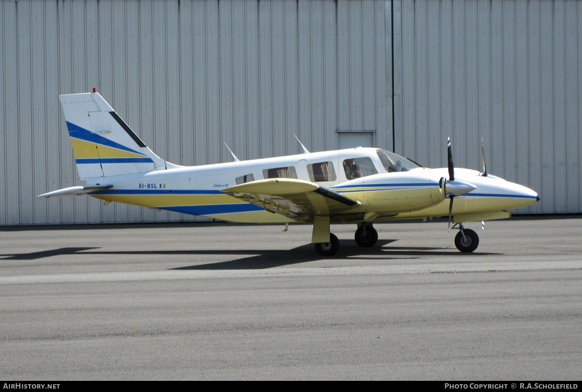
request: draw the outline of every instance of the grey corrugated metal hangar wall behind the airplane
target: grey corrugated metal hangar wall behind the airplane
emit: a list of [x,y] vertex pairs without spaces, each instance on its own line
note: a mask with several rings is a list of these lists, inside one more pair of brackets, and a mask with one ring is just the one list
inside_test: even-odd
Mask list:
[[[59,94],[98,91],[159,156],[192,165],[336,149],[341,131],[430,167],[581,207],[582,2],[2,1],[0,224],[191,220],[90,197]],[[339,131],[339,132],[338,132]]]

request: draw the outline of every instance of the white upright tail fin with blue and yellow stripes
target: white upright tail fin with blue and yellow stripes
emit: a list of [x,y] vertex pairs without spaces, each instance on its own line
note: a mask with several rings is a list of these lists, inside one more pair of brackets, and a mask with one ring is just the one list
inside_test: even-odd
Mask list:
[[82,180],[179,167],[148,149],[99,93],[60,98]]

